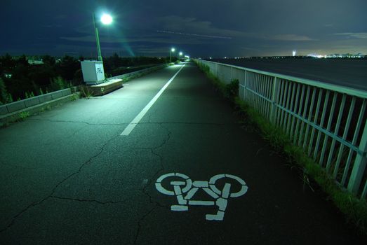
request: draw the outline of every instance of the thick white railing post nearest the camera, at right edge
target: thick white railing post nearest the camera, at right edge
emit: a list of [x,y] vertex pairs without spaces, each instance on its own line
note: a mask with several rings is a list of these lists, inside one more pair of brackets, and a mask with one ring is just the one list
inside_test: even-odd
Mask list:
[[[363,153],[367,151],[367,123],[364,125],[364,130],[361,138],[361,143],[359,144],[359,150]],[[356,155],[356,160],[354,161],[352,174],[350,175],[348,190],[354,194],[358,193],[359,187],[361,186],[361,181],[363,179],[364,169],[366,169],[367,158],[366,155]]]

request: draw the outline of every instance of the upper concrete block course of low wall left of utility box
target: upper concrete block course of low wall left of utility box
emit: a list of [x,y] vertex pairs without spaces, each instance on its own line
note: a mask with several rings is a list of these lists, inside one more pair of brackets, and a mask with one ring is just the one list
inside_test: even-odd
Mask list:
[[50,92],[48,94],[35,96],[29,99],[22,99],[19,102],[12,102],[9,104],[4,104],[0,106],[0,115],[6,115],[8,113],[20,111],[22,109],[26,109],[31,106],[36,106],[37,104],[49,102],[53,99],[65,97],[69,94],[72,94],[72,90],[70,88],[66,88],[65,90],[58,90],[55,92]]

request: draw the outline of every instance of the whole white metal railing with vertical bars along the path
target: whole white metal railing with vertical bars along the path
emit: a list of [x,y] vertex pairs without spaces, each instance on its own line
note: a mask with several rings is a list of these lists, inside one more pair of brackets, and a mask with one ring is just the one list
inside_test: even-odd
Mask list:
[[196,59],[350,192],[367,196],[367,92]]

